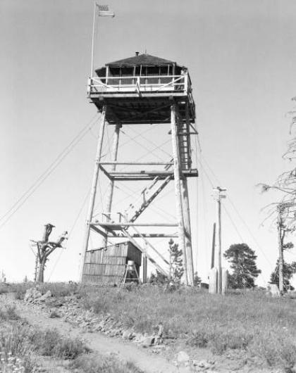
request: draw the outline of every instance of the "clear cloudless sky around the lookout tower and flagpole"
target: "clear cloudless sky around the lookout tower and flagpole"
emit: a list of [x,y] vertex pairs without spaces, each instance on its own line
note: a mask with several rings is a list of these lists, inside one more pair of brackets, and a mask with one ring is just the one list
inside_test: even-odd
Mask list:
[[[289,139],[285,113],[296,94],[295,1],[110,0],[109,6],[116,17],[99,18],[95,65],[147,50],[189,68],[199,158],[214,185],[228,189],[223,203],[240,234],[223,210],[223,249],[241,241],[249,244],[258,255],[263,284],[278,253],[276,230],[269,224],[260,227],[266,216],[261,208],[277,196],[262,196],[256,184],[273,182],[291,166],[281,156]],[[1,1],[1,216],[96,115],[86,94],[92,11],[88,0]],[[32,278],[29,240],[41,238],[47,222],[56,225],[56,235],[72,232],[66,250],[52,255],[45,278],[78,278],[97,131],[95,123],[1,227],[0,269],[9,280]],[[133,151],[125,148],[126,158]],[[211,184],[199,171],[198,198],[196,184],[190,182],[190,207],[195,263],[206,279],[215,205]],[[164,200],[169,210],[168,196]],[[295,260],[295,250],[286,258]]]

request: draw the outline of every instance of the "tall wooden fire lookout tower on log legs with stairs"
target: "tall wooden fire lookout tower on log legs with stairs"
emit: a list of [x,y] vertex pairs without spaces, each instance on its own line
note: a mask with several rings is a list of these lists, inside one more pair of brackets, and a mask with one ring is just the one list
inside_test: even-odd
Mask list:
[[[188,70],[164,58],[136,53],[133,57],[106,63],[104,67],[97,69],[96,73],[97,76],[88,80],[87,93],[90,101],[101,113],[101,125],[85,228],[81,279],[85,280],[85,258],[87,251],[90,251],[90,232],[94,232],[101,235],[102,248],[105,250],[108,249],[109,239],[127,239],[142,251],[144,258],[150,260],[165,274],[168,273],[164,269],[169,264],[168,260],[159,253],[152,242],[154,238],[176,237],[179,248],[183,251],[185,283],[192,285],[193,260],[187,178],[197,177],[198,172],[196,165],[192,165],[192,136],[196,135],[197,131],[195,102]],[[109,128],[113,127],[110,161],[102,159],[106,125]],[[119,160],[119,136],[127,125],[137,125],[139,131],[144,125],[165,126],[166,136],[171,137],[171,158],[167,162]],[[122,169],[121,166],[125,167],[118,170],[118,167]],[[144,170],[140,169],[143,166]],[[101,217],[96,220],[94,203],[99,174],[108,178],[108,189],[104,201],[106,207],[101,211]],[[113,197],[117,192],[116,182],[119,181],[149,183],[142,192],[140,206],[130,214],[126,211],[112,211]],[[174,183],[175,191],[175,222],[139,222],[139,218],[149,210],[152,201],[171,181]],[[150,232],[144,232],[144,227],[149,227]],[[162,232],[156,232],[160,227]],[[175,227],[176,232],[164,233],[164,227]],[[154,231],[151,232],[151,229]],[[152,251],[158,260],[152,258]]]

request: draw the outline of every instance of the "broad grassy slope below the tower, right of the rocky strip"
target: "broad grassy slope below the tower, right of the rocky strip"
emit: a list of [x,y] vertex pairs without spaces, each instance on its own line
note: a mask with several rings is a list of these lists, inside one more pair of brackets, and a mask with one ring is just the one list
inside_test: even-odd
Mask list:
[[125,327],[152,333],[160,322],[164,334],[214,353],[243,351],[246,358],[264,358],[273,367],[296,365],[295,300],[269,298],[262,291],[212,296],[197,289],[166,292],[142,286],[133,291],[90,289],[85,308],[109,313]]

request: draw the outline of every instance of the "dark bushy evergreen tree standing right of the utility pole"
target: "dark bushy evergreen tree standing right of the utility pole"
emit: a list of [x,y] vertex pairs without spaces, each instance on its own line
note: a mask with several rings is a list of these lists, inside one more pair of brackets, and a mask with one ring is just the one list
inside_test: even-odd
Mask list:
[[251,288],[254,286],[254,280],[258,277],[261,270],[257,269],[254,250],[247,244],[233,244],[224,253],[224,258],[230,263],[233,270],[229,274],[229,286],[233,289]]

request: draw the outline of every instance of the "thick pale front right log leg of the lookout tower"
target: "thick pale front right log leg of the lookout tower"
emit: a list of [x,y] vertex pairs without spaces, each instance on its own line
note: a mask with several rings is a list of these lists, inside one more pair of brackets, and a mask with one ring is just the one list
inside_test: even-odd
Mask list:
[[174,173],[174,183],[175,183],[175,200],[177,207],[177,217],[178,217],[178,238],[179,238],[179,249],[183,252],[184,261],[184,277],[185,284],[188,285],[187,277],[187,253],[185,250],[185,230],[183,222],[183,208],[182,208],[182,194],[180,185],[180,153],[178,151],[178,133],[176,125],[176,107],[175,103],[171,105],[171,137],[172,137],[172,148],[173,148],[173,173]]

